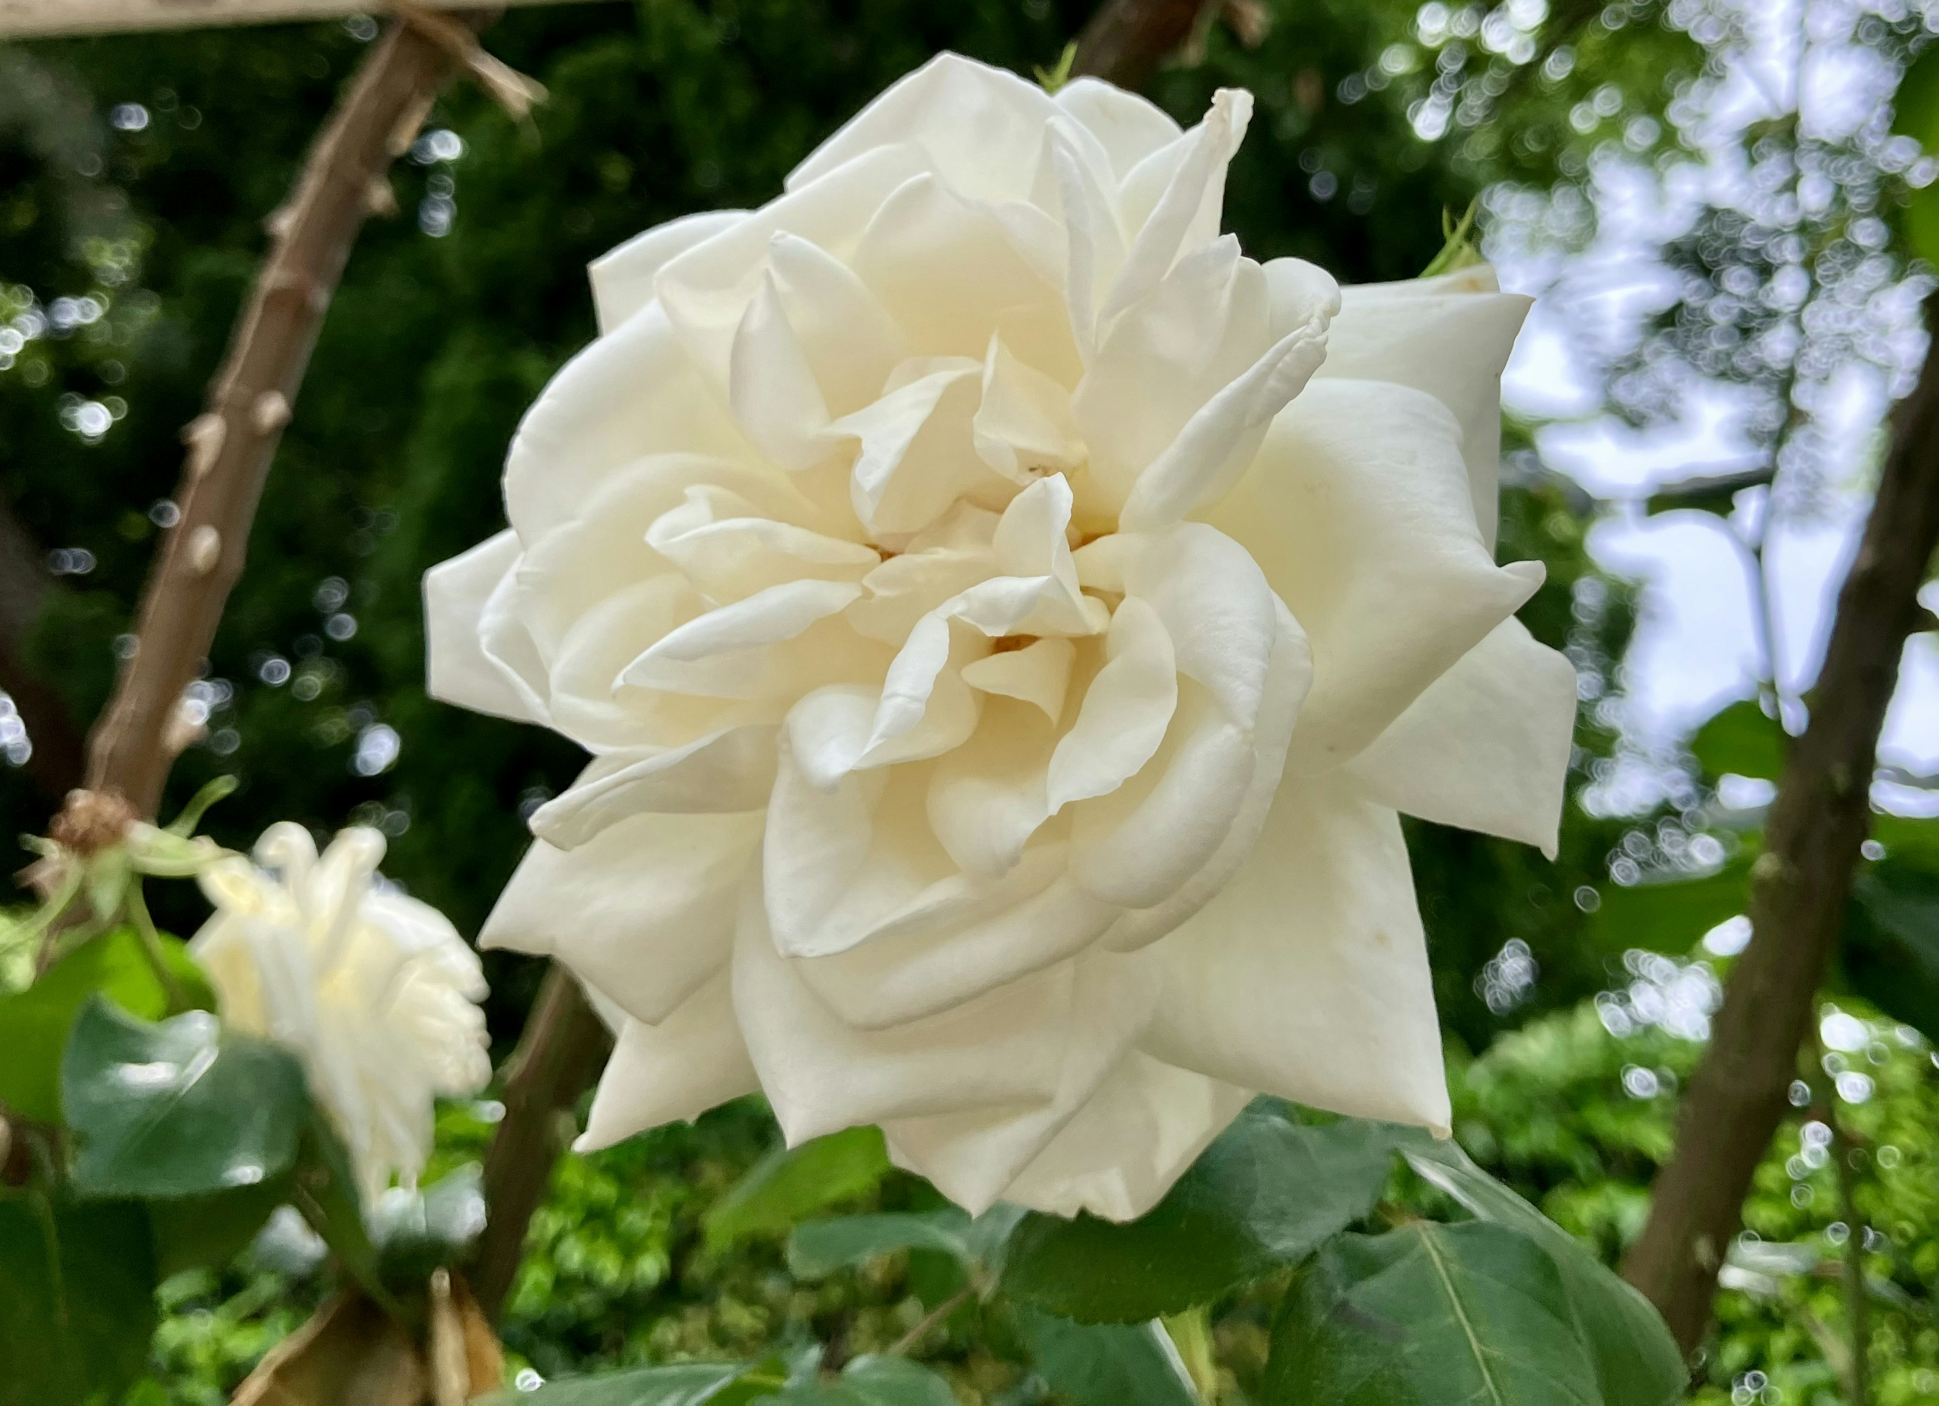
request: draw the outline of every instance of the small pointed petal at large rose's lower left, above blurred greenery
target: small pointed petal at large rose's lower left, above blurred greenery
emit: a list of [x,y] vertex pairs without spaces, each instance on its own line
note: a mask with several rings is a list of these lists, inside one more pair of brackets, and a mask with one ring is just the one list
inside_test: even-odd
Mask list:
[[721,968],[657,1024],[626,1018],[574,1152],[597,1152],[661,1123],[692,1121],[760,1080],[733,1014],[733,981]]

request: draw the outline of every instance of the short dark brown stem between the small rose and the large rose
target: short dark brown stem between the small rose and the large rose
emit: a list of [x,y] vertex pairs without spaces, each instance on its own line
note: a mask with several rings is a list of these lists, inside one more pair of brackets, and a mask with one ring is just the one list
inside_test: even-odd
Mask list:
[[504,1117],[485,1158],[485,1231],[471,1261],[471,1292],[491,1323],[525,1253],[525,1228],[553,1179],[553,1162],[572,1140],[560,1113],[597,1078],[613,1038],[566,968],[553,962],[506,1061]]

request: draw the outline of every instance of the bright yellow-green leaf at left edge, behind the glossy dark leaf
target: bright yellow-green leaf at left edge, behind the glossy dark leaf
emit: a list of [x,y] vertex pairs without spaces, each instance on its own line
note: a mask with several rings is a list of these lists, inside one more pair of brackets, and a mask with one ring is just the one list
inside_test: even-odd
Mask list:
[[[184,946],[163,937],[163,960],[190,999],[215,1008],[209,979]],[[68,952],[25,991],[0,997],[0,1103],[35,1123],[60,1121],[60,1057],[74,1018],[91,995],[122,1010],[155,1020],[169,1008],[169,993],[142,950],[132,927],[116,927]]]

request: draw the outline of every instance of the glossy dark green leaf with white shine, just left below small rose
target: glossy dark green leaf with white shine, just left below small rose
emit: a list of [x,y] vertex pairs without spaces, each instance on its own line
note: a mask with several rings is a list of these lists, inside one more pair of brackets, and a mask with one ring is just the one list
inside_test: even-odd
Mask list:
[[74,1022],[60,1092],[81,1197],[254,1187],[295,1162],[310,1105],[289,1051],[223,1038],[207,1010],[147,1024],[101,999]]

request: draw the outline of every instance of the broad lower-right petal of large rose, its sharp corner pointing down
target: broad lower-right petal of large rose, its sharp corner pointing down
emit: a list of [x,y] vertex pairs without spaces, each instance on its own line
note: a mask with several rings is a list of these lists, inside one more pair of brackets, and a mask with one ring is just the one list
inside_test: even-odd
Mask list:
[[1289,778],[1253,857],[1146,948],[1142,1049],[1353,1117],[1448,1125],[1441,1026],[1400,818],[1338,774]]

